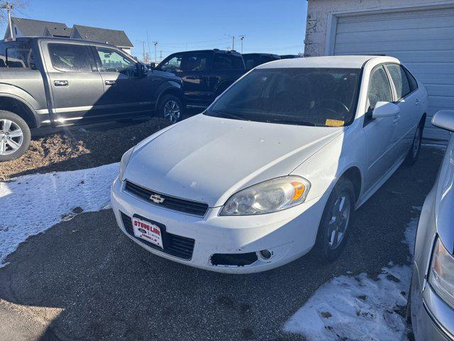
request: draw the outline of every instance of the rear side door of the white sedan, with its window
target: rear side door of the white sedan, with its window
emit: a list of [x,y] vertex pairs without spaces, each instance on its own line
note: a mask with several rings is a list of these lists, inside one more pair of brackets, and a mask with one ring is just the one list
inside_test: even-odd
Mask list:
[[386,68],[391,76],[395,90],[394,103],[400,109],[400,117],[397,119],[394,129],[394,153],[399,159],[408,153],[414,138],[414,127],[419,121],[419,99],[416,92],[411,91],[410,82],[404,68],[395,63],[387,63]]

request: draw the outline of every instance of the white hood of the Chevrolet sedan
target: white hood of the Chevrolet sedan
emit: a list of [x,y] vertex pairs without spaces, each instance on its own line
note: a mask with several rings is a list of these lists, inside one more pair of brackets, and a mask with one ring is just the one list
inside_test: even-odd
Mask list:
[[288,175],[343,129],[199,114],[139,144],[124,177],[159,193],[221,206],[242,188]]

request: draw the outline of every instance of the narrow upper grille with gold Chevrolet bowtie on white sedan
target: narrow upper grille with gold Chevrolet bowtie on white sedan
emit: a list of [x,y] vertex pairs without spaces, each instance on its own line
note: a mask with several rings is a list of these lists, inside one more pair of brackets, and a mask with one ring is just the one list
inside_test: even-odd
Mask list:
[[[136,195],[153,205],[165,207],[169,210],[189,213],[190,215],[198,215],[199,217],[203,217],[208,210],[208,204],[205,204],[204,202],[196,202],[192,200],[181,199],[179,197],[172,197],[170,195],[165,195],[162,193],[157,193],[153,190],[148,190],[147,188],[143,188],[142,186],[135,185],[135,183],[131,183],[128,180],[126,180],[125,183],[125,190],[126,192]],[[150,199],[151,195],[159,195],[160,197],[162,197],[162,199],[164,199],[164,201],[162,201],[160,204],[153,202]]]

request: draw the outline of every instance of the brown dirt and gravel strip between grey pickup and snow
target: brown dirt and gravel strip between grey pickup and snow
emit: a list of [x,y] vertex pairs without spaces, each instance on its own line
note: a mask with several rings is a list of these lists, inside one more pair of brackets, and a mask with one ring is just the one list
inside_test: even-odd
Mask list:
[[[57,132],[45,128],[48,134],[33,136],[24,156],[0,163],[0,181],[18,175],[75,171],[117,162],[129,148],[168,125],[165,119],[153,117],[130,124],[71,126]],[[40,129],[36,130],[40,133]]]

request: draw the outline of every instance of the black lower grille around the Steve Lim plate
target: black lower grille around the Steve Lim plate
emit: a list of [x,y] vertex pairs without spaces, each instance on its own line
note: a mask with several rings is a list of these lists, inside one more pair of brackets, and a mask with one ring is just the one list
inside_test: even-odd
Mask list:
[[146,241],[145,239],[135,237],[133,230],[133,220],[131,217],[128,217],[123,212],[121,213],[121,220],[123,221],[123,227],[126,229],[128,234],[137,239],[139,242],[151,247],[152,249],[162,251],[165,254],[170,254],[170,256],[178,257],[189,261],[192,259],[192,252],[194,251],[194,239],[177,236],[177,234],[169,233],[165,230],[164,225],[159,225],[162,234],[162,244],[164,249],[158,247],[157,245]]

